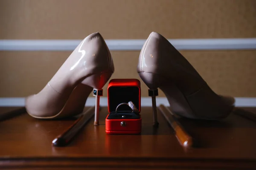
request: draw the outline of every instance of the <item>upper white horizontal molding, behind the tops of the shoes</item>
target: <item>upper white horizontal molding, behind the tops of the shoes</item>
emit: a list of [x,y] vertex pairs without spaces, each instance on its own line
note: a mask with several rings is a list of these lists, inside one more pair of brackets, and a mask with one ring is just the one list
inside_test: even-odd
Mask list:
[[[81,40],[0,40],[0,51],[73,51]],[[145,40],[106,40],[112,51],[139,51]],[[178,50],[256,49],[256,38],[169,39]]]

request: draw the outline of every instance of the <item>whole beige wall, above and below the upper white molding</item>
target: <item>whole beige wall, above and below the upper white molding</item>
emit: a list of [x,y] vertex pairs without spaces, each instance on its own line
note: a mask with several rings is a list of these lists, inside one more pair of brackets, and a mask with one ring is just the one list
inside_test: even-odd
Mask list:
[[[0,39],[256,37],[256,0],[0,0]],[[0,97],[37,93],[68,52],[0,51]],[[256,51],[181,51],[219,94],[256,97]],[[111,51],[113,78],[139,78],[139,51]],[[147,88],[142,85],[142,96]],[[160,96],[163,96],[161,93]]]

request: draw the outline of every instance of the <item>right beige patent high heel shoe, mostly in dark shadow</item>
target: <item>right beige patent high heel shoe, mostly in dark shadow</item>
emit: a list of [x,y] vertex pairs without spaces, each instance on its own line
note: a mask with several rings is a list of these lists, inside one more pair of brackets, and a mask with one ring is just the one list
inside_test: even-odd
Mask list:
[[173,112],[191,119],[222,119],[234,107],[233,97],[215,94],[179,51],[156,32],[143,45],[137,72],[152,97],[154,125],[158,124],[157,88],[164,92]]

